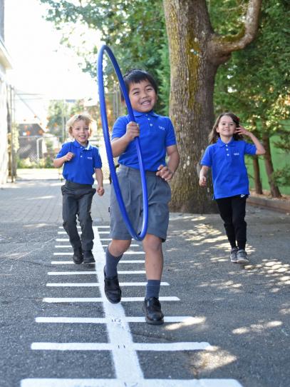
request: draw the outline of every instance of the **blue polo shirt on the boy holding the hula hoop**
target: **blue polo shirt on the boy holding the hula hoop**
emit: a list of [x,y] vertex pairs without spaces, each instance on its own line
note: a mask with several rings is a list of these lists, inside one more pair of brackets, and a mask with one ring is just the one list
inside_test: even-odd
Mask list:
[[[175,131],[169,117],[159,116],[154,111],[140,113],[133,111],[135,121],[140,125],[140,146],[145,171],[157,171],[158,166],[165,165],[167,146],[175,145]],[[130,117],[119,117],[113,126],[112,139],[120,138],[126,133]],[[139,169],[135,141],[131,141],[119,163]]]

